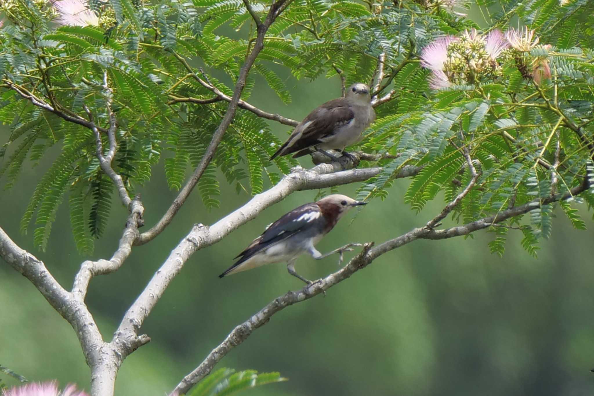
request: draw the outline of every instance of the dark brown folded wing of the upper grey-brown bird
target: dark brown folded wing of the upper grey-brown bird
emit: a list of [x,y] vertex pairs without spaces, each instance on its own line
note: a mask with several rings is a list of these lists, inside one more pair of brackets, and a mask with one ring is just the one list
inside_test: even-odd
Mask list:
[[320,144],[353,118],[355,113],[345,98],[330,100],[309,113],[271,159]]

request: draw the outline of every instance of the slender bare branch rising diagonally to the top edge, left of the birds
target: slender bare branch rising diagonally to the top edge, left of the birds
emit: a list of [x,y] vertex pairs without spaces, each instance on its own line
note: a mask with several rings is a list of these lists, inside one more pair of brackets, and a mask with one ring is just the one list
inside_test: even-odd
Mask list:
[[[252,65],[254,64],[254,61],[255,61],[256,57],[258,56],[258,53],[260,53],[260,51],[264,48],[264,36],[266,35],[266,31],[268,30],[270,25],[274,22],[277,15],[283,9],[285,9],[285,7],[291,1],[292,0],[278,0],[277,2],[273,3],[270,6],[270,11],[268,11],[266,20],[264,21],[263,24],[261,24],[258,27],[258,36],[257,36],[257,39],[255,40],[254,48],[249,53],[247,59],[245,59],[244,65],[241,66],[241,70],[239,71],[239,78],[237,79],[237,83],[235,84],[235,90],[233,90],[233,97],[229,103],[227,112],[225,113],[223,120],[219,124],[219,127],[214,132],[213,137],[210,141],[210,144],[208,144],[206,152],[204,153],[204,156],[202,157],[202,159],[200,160],[200,163],[196,167],[194,174],[191,176],[191,178],[188,180],[188,182],[184,185],[184,188],[181,189],[178,196],[173,200],[173,203],[171,204],[169,209],[166,211],[166,213],[163,215],[163,217],[157,222],[157,224],[155,224],[147,232],[143,232],[140,235],[140,237],[138,237],[138,239],[135,243],[136,245],[143,245],[144,243],[149,242],[154,237],[159,235],[165,229],[165,227],[167,227],[169,225],[169,223],[171,223],[171,221],[173,220],[173,217],[178,212],[179,208],[182,207],[182,205],[184,204],[186,199],[189,197],[189,194],[192,192],[192,189],[194,189],[194,187],[198,183],[198,180],[200,180],[201,176],[204,173],[204,170],[206,170],[206,167],[208,166],[210,161],[213,159],[214,153],[217,150],[217,147],[219,147],[220,142],[223,140],[223,135],[225,135],[225,132],[229,128],[229,125],[230,125],[231,121],[233,120],[233,117],[235,116],[235,112],[237,110],[238,103],[239,103],[239,98],[241,97],[241,93],[244,90],[245,80],[248,77],[249,69],[251,69]],[[176,57],[179,57],[179,55],[177,55],[176,53],[174,53],[174,55],[176,55]],[[184,63],[187,64],[187,62],[184,62]],[[193,71],[192,71],[192,73],[193,73]]]

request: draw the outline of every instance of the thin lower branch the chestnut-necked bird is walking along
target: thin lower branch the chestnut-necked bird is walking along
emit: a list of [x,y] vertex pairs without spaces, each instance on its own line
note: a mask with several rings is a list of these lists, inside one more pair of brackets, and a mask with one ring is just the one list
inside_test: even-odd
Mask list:
[[[473,173],[473,175],[475,175],[475,173]],[[545,199],[542,201],[542,204],[569,198],[572,195],[579,194],[585,189],[586,188],[583,185],[577,186],[571,190],[571,193],[557,195],[555,197]],[[352,274],[371,264],[371,262],[379,256],[386,254],[393,249],[400,248],[400,246],[404,246],[407,243],[413,242],[417,239],[446,239],[455,236],[467,235],[476,230],[488,228],[492,226],[492,224],[500,223],[507,218],[527,213],[528,211],[533,210],[535,207],[539,207],[542,204],[538,200],[532,201],[520,207],[502,211],[495,216],[485,217],[480,220],[473,221],[472,223],[464,224],[463,226],[451,227],[445,230],[433,230],[427,226],[415,228],[399,237],[388,240],[375,247],[373,247],[372,242],[365,243],[363,251],[352,258],[349,263],[345,265],[345,267],[333,274],[328,275],[325,278],[314,281],[301,290],[296,292],[287,292],[283,296],[277,297],[272,302],[268,303],[268,305],[266,305],[263,309],[258,311],[255,315],[251,316],[251,318],[249,318],[247,321],[236,326],[225,338],[225,340],[223,340],[219,346],[214,348],[208,354],[206,359],[204,359],[203,362],[198,365],[197,368],[192,370],[192,372],[186,375],[184,379],[182,379],[182,381],[176,385],[175,389],[173,389],[173,391],[170,393],[170,396],[188,392],[190,388],[207,376],[214,366],[223,357],[225,357],[230,350],[244,342],[249,337],[249,335],[251,335],[252,331],[267,324],[274,313],[285,309],[287,306],[305,301],[316,296],[317,294],[326,292],[326,290],[330,289],[330,287],[335,286],[346,278],[349,278]]]

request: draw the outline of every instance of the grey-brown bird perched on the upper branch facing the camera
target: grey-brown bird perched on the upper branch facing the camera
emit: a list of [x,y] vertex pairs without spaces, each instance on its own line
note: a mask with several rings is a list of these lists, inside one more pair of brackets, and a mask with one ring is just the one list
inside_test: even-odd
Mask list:
[[375,121],[368,85],[356,83],[346,90],[345,97],[330,100],[313,110],[301,121],[270,160],[292,154],[293,158],[319,151],[333,160],[336,156],[325,150],[338,150],[343,156],[345,147],[361,140],[362,132]]

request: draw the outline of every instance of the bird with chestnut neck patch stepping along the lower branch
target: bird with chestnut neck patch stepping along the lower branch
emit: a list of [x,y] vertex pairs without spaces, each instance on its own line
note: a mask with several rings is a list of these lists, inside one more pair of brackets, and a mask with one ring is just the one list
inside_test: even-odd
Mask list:
[[307,284],[311,283],[295,272],[295,260],[302,254],[322,259],[336,253],[340,253],[342,259],[343,252],[352,250],[347,249],[349,246],[359,246],[358,243],[350,243],[324,255],[314,248],[347,211],[366,204],[367,202],[355,201],[346,195],[333,194],[293,209],[270,224],[262,235],[235,257],[239,260],[220,274],[219,278],[264,264],[286,261],[289,274]]

